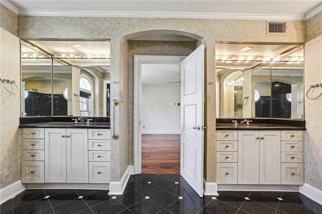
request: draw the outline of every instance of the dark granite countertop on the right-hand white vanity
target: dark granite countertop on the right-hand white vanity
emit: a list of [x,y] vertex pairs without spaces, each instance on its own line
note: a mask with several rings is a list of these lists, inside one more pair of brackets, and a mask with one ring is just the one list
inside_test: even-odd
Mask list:
[[227,123],[217,123],[216,124],[217,130],[223,129],[235,129],[235,130],[246,130],[246,129],[267,129],[267,130],[306,130],[305,127],[298,127],[298,126],[288,126],[288,125],[279,125],[279,124],[250,124],[250,125],[240,125],[238,124],[235,126],[234,124],[227,124]]

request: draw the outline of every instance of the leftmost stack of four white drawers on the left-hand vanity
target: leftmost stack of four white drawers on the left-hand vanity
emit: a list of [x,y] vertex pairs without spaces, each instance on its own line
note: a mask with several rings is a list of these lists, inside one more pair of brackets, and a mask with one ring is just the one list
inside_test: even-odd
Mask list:
[[44,129],[25,128],[22,132],[22,183],[44,183]]

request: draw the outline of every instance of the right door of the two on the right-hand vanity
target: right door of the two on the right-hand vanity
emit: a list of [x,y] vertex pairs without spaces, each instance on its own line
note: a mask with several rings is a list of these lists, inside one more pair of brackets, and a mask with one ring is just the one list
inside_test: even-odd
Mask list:
[[260,131],[260,184],[281,184],[281,131]]

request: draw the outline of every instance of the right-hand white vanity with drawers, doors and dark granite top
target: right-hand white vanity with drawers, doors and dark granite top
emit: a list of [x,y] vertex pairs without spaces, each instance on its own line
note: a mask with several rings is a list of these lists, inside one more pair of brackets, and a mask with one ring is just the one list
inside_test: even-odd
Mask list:
[[303,184],[305,128],[217,124],[217,184]]

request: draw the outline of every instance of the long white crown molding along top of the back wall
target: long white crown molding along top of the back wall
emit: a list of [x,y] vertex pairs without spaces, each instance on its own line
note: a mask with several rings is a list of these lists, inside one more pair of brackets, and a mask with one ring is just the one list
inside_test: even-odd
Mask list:
[[276,20],[306,21],[306,15],[260,15],[221,13],[155,13],[155,12],[101,12],[101,11],[31,11],[20,10],[19,16],[59,17],[114,17],[114,18],[176,18],[176,19],[225,19],[225,20]]

